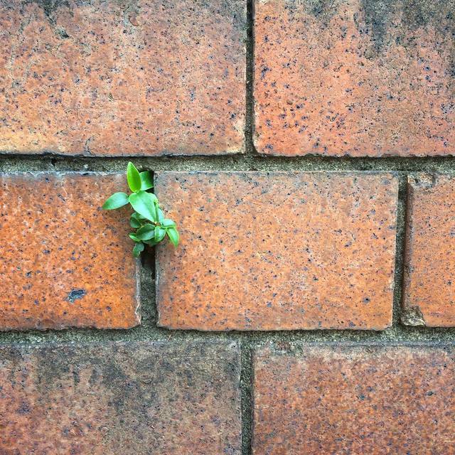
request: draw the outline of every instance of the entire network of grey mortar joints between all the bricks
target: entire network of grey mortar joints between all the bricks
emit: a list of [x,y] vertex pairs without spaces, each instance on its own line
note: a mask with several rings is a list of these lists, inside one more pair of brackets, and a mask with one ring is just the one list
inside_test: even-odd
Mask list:
[[[316,2],[317,3],[317,2]],[[371,1],[366,1],[371,4]],[[55,1],[45,4],[54,6]],[[404,326],[400,323],[402,271],[405,235],[405,203],[407,198],[407,176],[415,173],[449,173],[455,175],[455,157],[433,158],[328,158],[321,156],[273,157],[261,156],[253,146],[254,107],[252,93],[253,3],[248,0],[247,26],[247,107],[245,126],[245,154],[234,156],[168,156],[134,157],[132,161],[141,170],[150,171],[392,171],[400,179],[397,210],[397,255],[395,263],[395,292],[393,303],[393,325],[385,331],[252,331],[252,332],[198,332],[171,331],[156,326],[154,300],[154,260],[151,255],[142,261],[141,313],[142,324],[129,330],[67,329],[63,331],[1,332],[0,343],[92,343],[106,341],[174,340],[181,343],[200,340],[237,341],[241,346],[242,372],[240,393],[242,397],[242,455],[250,455],[252,439],[252,353],[255,348],[272,344],[279,350],[300,351],[313,343],[422,344],[454,345],[455,328],[425,328]],[[50,11],[51,13],[51,11]],[[374,16],[372,14],[372,16]],[[90,158],[47,155],[0,157],[0,171],[111,171],[124,172],[129,159]]]

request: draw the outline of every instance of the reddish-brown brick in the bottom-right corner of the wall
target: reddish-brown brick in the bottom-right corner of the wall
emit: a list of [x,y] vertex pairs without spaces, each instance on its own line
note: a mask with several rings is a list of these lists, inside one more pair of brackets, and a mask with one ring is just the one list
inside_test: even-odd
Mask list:
[[255,356],[255,455],[455,454],[454,348]]

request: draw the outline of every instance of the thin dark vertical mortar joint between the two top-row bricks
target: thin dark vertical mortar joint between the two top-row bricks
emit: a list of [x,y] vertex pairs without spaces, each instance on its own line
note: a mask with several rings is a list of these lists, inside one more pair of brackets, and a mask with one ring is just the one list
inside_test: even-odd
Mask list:
[[247,0],[247,36],[246,36],[246,94],[245,94],[245,154],[255,154],[253,134],[255,130],[255,107],[253,80],[255,68],[254,45],[255,0]]

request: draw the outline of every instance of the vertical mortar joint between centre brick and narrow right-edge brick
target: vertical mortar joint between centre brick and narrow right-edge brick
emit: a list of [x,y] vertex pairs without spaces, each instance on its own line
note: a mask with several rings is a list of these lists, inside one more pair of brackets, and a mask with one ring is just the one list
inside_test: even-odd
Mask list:
[[397,236],[395,247],[395,276],[393,291],[393,326],[400,327],[403,270],[405,267],[405,237],[407,210],[407,173],[400,173],[397,201]]

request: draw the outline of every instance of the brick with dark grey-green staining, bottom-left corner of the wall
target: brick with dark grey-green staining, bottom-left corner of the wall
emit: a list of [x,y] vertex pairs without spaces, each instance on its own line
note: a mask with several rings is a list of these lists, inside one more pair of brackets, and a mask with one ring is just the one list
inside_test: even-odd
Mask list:
[[240,455],[230,343],[0,348],[0,452]]

